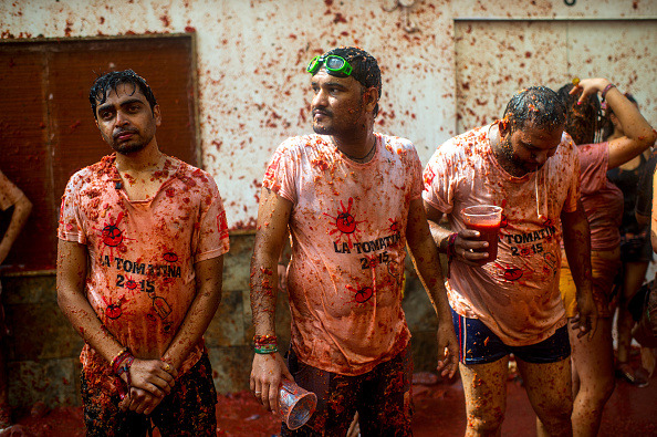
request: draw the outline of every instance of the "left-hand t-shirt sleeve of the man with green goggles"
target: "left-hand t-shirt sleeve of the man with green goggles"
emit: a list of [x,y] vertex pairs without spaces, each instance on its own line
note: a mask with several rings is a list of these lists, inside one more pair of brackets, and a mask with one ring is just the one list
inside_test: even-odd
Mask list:
[[264,171],[262,186],[295,204],[298,162],[299,158],[295,159],[293,156],[293,138],[288,138],[274,152]]

